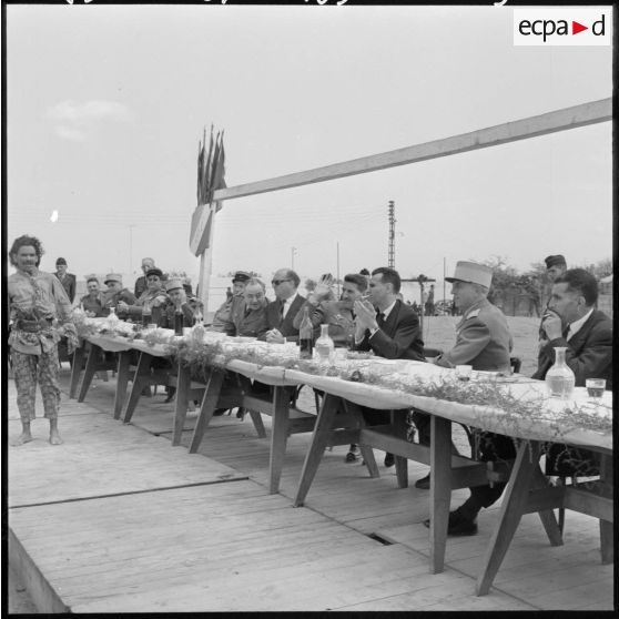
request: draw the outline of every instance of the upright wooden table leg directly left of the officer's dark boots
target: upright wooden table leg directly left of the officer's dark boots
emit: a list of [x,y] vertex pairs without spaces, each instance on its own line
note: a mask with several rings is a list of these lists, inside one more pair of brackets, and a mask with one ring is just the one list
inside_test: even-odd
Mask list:
[[430,418],[430,574],[445,568],[445,546],[451,505],[451,422]]

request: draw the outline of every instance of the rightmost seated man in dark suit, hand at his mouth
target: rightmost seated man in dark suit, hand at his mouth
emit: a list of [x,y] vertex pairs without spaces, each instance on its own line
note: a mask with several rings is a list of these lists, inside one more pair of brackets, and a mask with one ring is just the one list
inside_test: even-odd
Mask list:
[[[542,380],[555,363],[555,347],[564,346],[576,386],[587,378],[606,378],[612,388],[612,321],[599,310],[598,283],[584,268],[570,268],[554,285],[541,327],[545,334],[534,378]],[[546,454],[547,475],[598,475],[598,457],[587,449],[552,445]]]

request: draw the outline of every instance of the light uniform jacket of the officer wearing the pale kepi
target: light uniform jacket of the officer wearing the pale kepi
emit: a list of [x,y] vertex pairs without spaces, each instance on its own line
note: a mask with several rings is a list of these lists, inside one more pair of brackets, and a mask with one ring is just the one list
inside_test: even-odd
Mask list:
[[444,367],[471,365],[474,369],[508,372],[513,339],[505,314],[487,298],[469,307],[456,326],[456,345],[437,357]]

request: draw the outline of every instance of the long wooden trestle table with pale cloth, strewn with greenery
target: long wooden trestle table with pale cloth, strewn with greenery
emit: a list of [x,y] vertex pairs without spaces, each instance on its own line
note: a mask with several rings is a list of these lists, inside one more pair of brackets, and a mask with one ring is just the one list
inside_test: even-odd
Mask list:
[[[165,346],[149,346],[142,341],[129,342],[122,337],[93,336],[88,339],[103,349],[114,349],[121,353],[138,349],[141,353],[136,378],[134,377],[131,396],[125,406],[124,420],[128,422],[142,388],[140,376],[144,375],[146,366],[150,367],[153,356],[166,355],[166,348]],[[124,378],[121,376],[120,366],[119,361],[119,378],[122,383]],[[554,508],[564,507],[599,518],[602,560],[605,562],[612,560],[612,436],[611,434],[600,435],[578,427],[562,433],[561,443],[590,448],[601,454],[600,480],[591,484],[590,488],[581,486],[550,487],[539,469],[538,460],[541,444],[548,440],[557,442],[556,428],[552,426],[552,400],[548,400],[549,416],[547,420],[527,422],[521,419],[514,425],[513,418],[506,412],[498,409],[413,395],[396,388],[380,388],[376,385],[353,383],[338,377],[317,376],[282,367],[258,367],[256,364],[236,359],[226,364],[226,371],[229,376],[235,377],[235,382],[232,382],[232,387],[229,382],[227,387],[223,388],[224,373],[221,371],[211,372],[207,382],[201,385],[192,383],[185,368],[179,368],[173,444],[180,444],[186,404],[196,390],[202,390],[203,396],[190,445],[192,453],[197,449],[216,407],[244,406],[248,408],[255,413],[252,418],[258,435],[261,435],[260,425],[262,423],[258,424],[254,417],[260,419],[258,412],[271,414],[273,415],[273,433],[270,490],[276,493],[287,435],[292,432],[310,432],[313,427],[312,442],[294,499],[295,506],[303,505],[327,445],[357,443],[362,447],[372,477],[378,476],[372,448],[384,449],[396,455],[396,475],[400,487],[405,487],[408,483],[407,459],[430,466],[429,569],[432,572],[439,572],[444,569],[451,490],[508,479],[493,541],[479,574],[476,588],[478,595],[484,595],[489,590],[522,514],[539,513],[551,545],[562,544],[561,534],[552,513]],[[412,376],[433,379],[445,376],[445,373],[450,371],[438,368],[432,364],[408,362],[408,372]],[[256,397],[255,394],[252,394],[250,380],[260,380],[271,385],[272,398]],[[124,384],[126,386],[126,383]],[[294,418],[291,414],[290,389],[297,385],[308,385],[325,394],[315,423],[313,415],[304,414]],[[520,398],[539,399],[539,396],[545,393],[542,383],[530,379],[503,385],[503,387],[509,388]],[[576,389],[576,393],[582,400],[582,389]],[[116,389],[115,414],[120,398],[119,389]],[[605,396],[603,404],[610,405],[611,408],[611,394]],[[359,406],[385,410],[385,424],[367,427],[364,424]],[[410,444],[406,440],[405,413],[412,407],[430,415],[432,442],[429,447]],[[453,422],[524,439],[518,448],[516,460],[514,463],[479,463],[453,455]],[[264,428],[262,428],[262,433],[264,433]]]

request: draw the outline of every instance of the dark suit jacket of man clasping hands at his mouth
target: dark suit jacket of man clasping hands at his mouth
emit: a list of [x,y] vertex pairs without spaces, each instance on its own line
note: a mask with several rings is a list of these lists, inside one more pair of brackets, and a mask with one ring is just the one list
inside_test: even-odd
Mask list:
[[369,349],[387,359],[426,361],[419,318],[413,308],[397,300],[385,324],[372,337],[366,331],[357,345],[357,351]]

